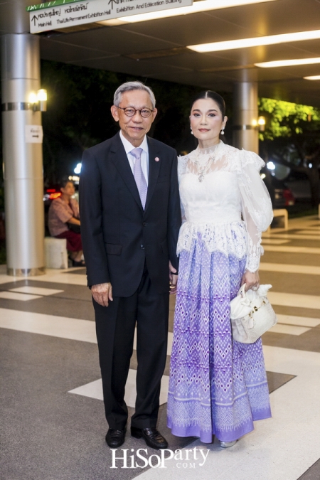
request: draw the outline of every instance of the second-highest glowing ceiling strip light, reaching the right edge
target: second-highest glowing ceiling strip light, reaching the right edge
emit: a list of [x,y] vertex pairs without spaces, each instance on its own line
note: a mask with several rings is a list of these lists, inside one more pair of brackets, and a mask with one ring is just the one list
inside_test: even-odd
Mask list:
[[282,33],[265,37],[238,38],[224,42],[201,43],[200,45],[189,45],[187,48],[199,53],[218,52],[221,50],[234,50],[235,48],[258,47],[262,45],[274,45],[277,43],[298,42],[303,40],[314,40],[320,38],[320,30],[306,32]]

